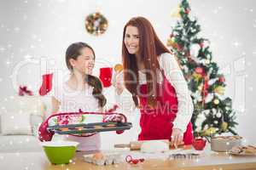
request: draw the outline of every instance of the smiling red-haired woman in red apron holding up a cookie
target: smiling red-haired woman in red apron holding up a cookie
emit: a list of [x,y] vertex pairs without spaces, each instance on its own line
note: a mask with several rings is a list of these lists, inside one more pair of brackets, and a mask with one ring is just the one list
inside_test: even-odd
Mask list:
[[147,19],[135,17],[126,23],[122,57],[124,71],[114,75],[113,85],[119,106],[125,111],[140,108],[138,139],[191,144],[193,103],[187,82]]

